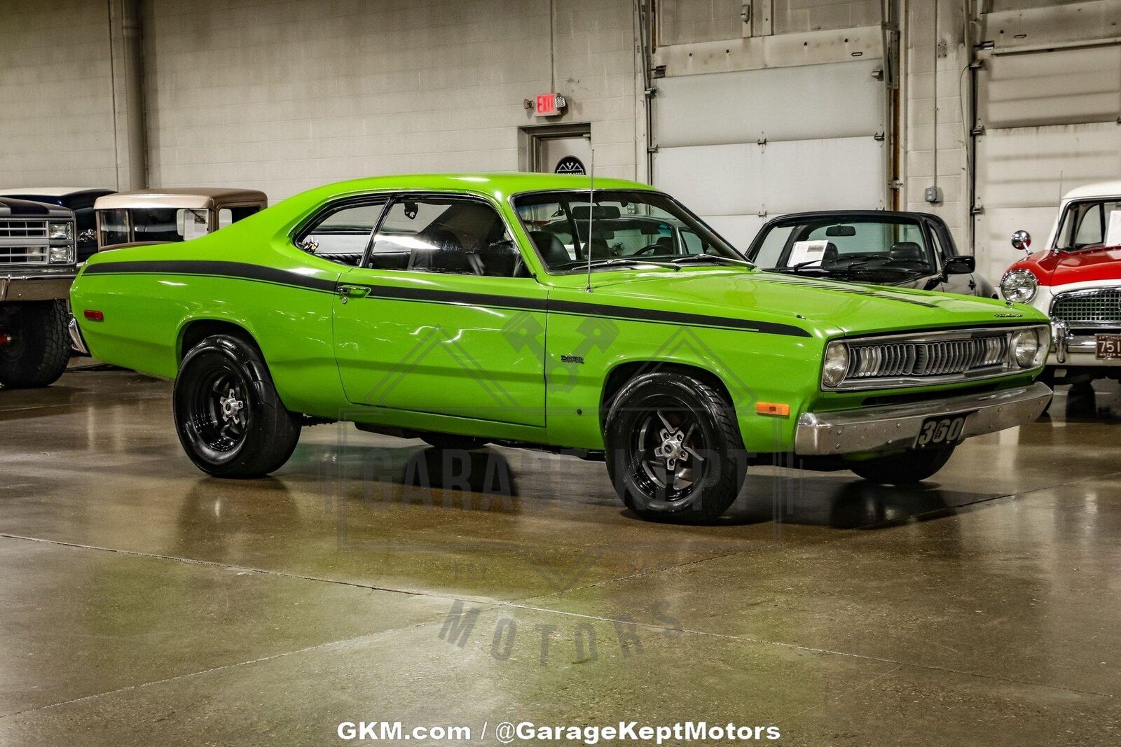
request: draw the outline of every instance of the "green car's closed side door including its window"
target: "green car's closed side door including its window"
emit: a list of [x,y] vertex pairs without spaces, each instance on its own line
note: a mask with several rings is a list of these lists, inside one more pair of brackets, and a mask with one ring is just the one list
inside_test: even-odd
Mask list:
[[355,404],[545,426],[545,301],[483,198],[405,194],[343,274],[335,358]]

